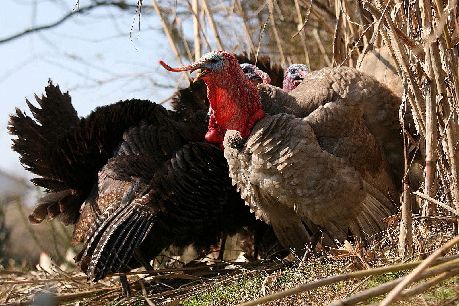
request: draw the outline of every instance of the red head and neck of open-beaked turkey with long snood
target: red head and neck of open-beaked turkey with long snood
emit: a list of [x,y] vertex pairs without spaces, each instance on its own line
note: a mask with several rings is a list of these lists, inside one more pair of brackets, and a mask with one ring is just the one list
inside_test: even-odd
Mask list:
[[[214,119],[225,129],[241,132],[242,138],[247,138],[255,122],[264,117],[257,86],[246,78],[238,61],[230,53],[212,51],[190,65],[179,68],[169,67],[162,61],[159,63],[169,71],[193,72],[202,69],[195,81],[203,79],[206,83]],[[220,134],[209,124],[206,140],[222,143],[223,135]]]

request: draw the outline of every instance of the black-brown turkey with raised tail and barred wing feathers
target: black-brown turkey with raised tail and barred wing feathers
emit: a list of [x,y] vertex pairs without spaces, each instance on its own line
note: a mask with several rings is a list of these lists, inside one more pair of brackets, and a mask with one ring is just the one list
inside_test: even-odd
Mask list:
[[266,227],[231,186],[223,152],[203,141],[206,111],[177,122],[131,99],[78,118],[68,93],[52,83],[45,93],[41,108],[27,101],[35,120],[17,109],[9,122],[13,150],[48,191],[29,220],[76,223],[72,243],[86,245],[78,260],[88,279],[148,268],[170,245],[206,250],[242,227]]

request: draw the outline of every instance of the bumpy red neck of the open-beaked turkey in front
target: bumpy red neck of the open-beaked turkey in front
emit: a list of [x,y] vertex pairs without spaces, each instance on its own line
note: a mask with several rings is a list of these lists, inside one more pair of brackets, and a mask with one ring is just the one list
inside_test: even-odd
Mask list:
[[247,80],[242,71],[225,74],[205,79],[207,98],[218,124],[239,131],[246,139],[255,123],[264,117],[260,96],[257,87]]

